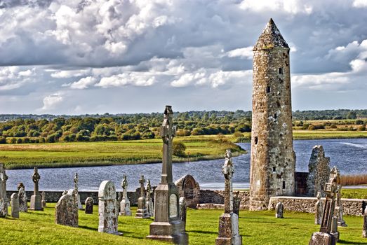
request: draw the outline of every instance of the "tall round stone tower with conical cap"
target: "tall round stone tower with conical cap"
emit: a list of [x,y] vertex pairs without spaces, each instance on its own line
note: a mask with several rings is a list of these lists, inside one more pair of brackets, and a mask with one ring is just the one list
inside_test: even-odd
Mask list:
[[289,47],[272,19],[253,48],[250,210],[295,193]]

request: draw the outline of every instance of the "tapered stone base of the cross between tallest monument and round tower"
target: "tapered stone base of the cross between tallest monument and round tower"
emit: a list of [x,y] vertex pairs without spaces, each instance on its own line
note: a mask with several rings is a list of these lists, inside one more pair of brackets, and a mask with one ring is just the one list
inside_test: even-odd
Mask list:
[[241,245],[239,235],[239,217],[234,214],[222,214],[219,218],[219,234],[215,239],[216,245]]

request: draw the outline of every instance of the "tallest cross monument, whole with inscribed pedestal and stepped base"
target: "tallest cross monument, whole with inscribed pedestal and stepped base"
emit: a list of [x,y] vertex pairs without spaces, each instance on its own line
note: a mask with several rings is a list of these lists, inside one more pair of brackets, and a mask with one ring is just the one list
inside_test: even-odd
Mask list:
[[160,130],[164,142],[161,183],[154,190],[154,222],[150,224],[147,238],[188,244],[189,236],[179,216],[178,188],[172,179],[172,142],[175,137],[172,116],[171,106],[166,106]]

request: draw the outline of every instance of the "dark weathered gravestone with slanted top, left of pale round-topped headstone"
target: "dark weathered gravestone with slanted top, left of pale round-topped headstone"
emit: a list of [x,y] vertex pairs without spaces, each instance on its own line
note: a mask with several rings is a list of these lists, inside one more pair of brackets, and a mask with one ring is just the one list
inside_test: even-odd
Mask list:
[[79,214],[75,190],[70,189],[66,195],[60,197],[55,206],[55,223],[78,227]]

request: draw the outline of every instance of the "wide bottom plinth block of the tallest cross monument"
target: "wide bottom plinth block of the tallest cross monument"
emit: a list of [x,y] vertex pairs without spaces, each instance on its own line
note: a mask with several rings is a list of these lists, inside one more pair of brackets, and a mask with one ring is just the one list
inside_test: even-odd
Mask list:
[[189,244],[189,235],[185,232],[185,223],[180,220],[171,222],[153,222],[149,226],[148,239],[168,241],[173,244]]

